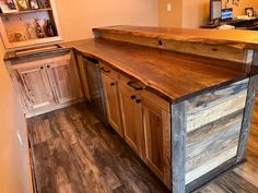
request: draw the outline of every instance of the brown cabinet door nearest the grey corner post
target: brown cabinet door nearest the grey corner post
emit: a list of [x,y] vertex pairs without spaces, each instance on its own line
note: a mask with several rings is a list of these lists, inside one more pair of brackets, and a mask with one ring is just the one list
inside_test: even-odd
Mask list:
[[156,176],[171,188],[169,112],[151,98],[142,98],[145,149],[143,159]]

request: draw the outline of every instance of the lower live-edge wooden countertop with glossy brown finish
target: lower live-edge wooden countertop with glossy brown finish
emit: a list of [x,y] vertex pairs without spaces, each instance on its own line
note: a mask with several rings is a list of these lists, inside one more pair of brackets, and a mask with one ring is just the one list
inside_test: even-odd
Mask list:
[[244,64],[192,55],[92,38],[60,45],[73,47],[85,56],[138,81],[169,102],[198,95],[216,86],[248,76]]

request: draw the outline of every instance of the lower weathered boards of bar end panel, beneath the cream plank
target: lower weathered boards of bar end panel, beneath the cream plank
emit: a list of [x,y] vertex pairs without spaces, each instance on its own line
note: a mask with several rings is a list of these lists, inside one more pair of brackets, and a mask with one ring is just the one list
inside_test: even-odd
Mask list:
[[236,156],[243,110],[187,135],[186,184]]

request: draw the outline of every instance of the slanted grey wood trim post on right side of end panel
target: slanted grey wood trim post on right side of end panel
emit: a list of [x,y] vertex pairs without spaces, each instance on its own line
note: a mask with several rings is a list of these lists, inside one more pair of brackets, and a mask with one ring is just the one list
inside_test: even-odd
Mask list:
[[248,135],[249,135],[250,124],[253,120],[251,117],[253,117],[253,111],[254,111],[254,106],[255,106],[257,86],[258,86],[258,75],[251,76],[249,81],[248,94],[246,98],[246,107],[245,107],[244,119],[242,123],[241,138],[239,138],[237,159],[236,159],[237,162],[242,161],[245,158]]

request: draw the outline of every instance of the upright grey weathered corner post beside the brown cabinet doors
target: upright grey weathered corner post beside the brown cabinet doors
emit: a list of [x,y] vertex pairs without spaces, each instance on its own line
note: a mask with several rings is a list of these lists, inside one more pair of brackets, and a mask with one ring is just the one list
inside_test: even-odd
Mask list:
[[173,193],[185,192],[186,174],[186,104],[172,107],[172,190]]

